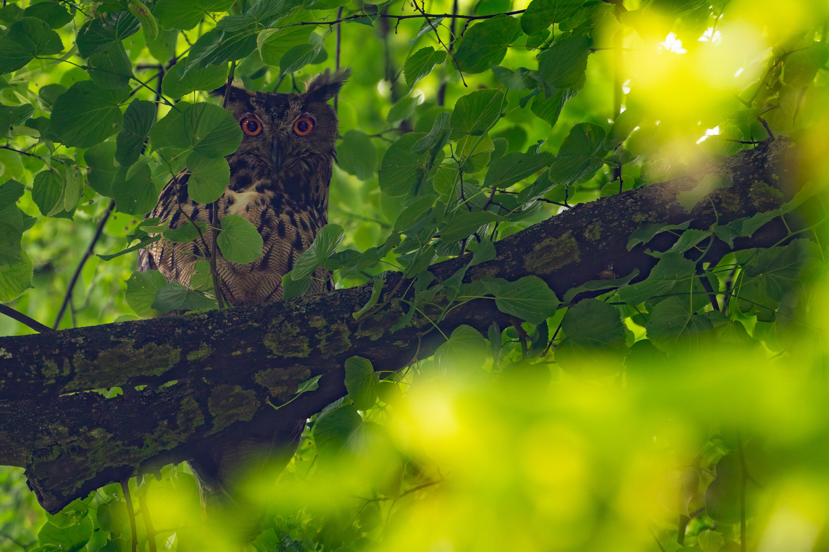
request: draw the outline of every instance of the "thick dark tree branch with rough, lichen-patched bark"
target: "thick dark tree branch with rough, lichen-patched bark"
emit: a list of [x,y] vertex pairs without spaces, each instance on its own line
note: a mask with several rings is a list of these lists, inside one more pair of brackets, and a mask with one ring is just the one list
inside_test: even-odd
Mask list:
[[[691,228],[710,228],[779,207],[795,191],[784,161],[791,147],[764,142],[696,175],[565,210],[497,242],[497,258],[471,267],[465,281],[535,275],[562,297],[606,277],[608,269],[620,276],[637,269],[642,280],[657,259],[644,245],[628,251],[628,237],[641,223],[690,220]],[[692,197],[687,194],[710,181],[705,175],[731,185],[705,195],[689,213],[677,197]],[[734,247],[716,242],[700,261],[768,247],[787,234],[776,218]],[[669,246],[659,237],[647,244]],[[444,281],[466,262],[468,256],[430,271]],[[360,355],[376,369],[395,370],[439,345],[439,332],[423,317],[390,331],[410,287],[398,281],[399,274],[390,276],[383,308],[359,320],[352,313],[369,300],[368,285],[305,300],[0,338],[0,463],[27,468],[41,505],[55,512],[106,483],[191,458],[240,425],[290,424],[313,415],[345,395],[347,358]],[[448,334],[460,324],[486,331],[492,321],[504,327],[511,317],[493,300],[478,299],[454,308],[439,325]],[[322,376],[317,391],[279,410],[270,406],[287,402],[314,376]],[[124,395],[90,392],[112,386]]]

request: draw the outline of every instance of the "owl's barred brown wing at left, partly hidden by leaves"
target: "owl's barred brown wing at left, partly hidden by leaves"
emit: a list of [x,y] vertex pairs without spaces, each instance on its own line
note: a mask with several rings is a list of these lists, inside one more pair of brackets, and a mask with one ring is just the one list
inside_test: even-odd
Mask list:
[[[209,223],[210,213],[205,205],[196,204],[187,195],[187,180],[190,174],[182,171],[158,195],[158,204],[148,218],[169,221],[169,228],[180,228],[189,220]],[[150,234],[151,236],[158,234]],[[199,258],[209,256],[209,242],[197,238],[187,243],[169,242],[161,239],[138,252],[138,271],[158,270],[167,281],[187,285]]]

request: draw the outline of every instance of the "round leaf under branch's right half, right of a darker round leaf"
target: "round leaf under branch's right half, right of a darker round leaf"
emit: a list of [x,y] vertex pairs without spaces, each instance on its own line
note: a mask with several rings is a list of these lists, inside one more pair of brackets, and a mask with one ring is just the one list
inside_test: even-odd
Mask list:
[[653,307],[645,324],[647,338],[663,353],[676,353],[701,344],[704,334],[714,329],[714,324],[701,314],[691,310],[691,300],[686,297],[668,297]]

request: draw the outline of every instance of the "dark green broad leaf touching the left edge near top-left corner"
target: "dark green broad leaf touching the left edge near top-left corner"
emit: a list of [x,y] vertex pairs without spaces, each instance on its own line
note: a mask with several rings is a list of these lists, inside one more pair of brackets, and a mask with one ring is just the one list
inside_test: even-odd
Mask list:
[[37,56],[61,51],[61,37],[46,22],[36,17],[22,17],[0,36],[0,74],[21,69]]

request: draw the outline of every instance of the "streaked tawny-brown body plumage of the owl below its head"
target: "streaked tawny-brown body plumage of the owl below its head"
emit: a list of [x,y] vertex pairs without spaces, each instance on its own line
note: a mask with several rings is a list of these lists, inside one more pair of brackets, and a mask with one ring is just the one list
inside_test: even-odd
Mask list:
[[[222,293],[230,305],[256,305],[282,298],[282,276],[293,268],[299,255],[313,243],[320,228],[327,223],[327,183],[331,168],[318,170],[309,187],[305,175],[274,173],[262,170],[258,164],[245,165],[243,160],[230,156],[230,185],[218,199],[221,218],[239,215],[252,223],[264,242],[263,256],[248,264],[225,260],[221,251],[216,258],[216,269],[221,279]],[[318,167],[319,169],[319,167]],[[323,173],[323,174],[320,174]],[[196,204],[187,195],[189,175],[182,173],[162,190],[158,205],[148,216],[169,220],[170,228],[179,228],[194,222],[211,225],[209,205]],[[324,179],[324,180],[323,180]],[[293,180],[293,181],[291,181]],[[305,184],[303,184],[305,182]],[[323,184],[324,183],[324,184]],[[320,184],[324,195],[314,194],[314,185]],[[193,242],[173,243],[160,240],[138,255],[138,270],[158,270],[167,281],[187,285],[196,262],[211,254],[210,233]],[[311,292],[330,289],[326,271],[318,269]]]

